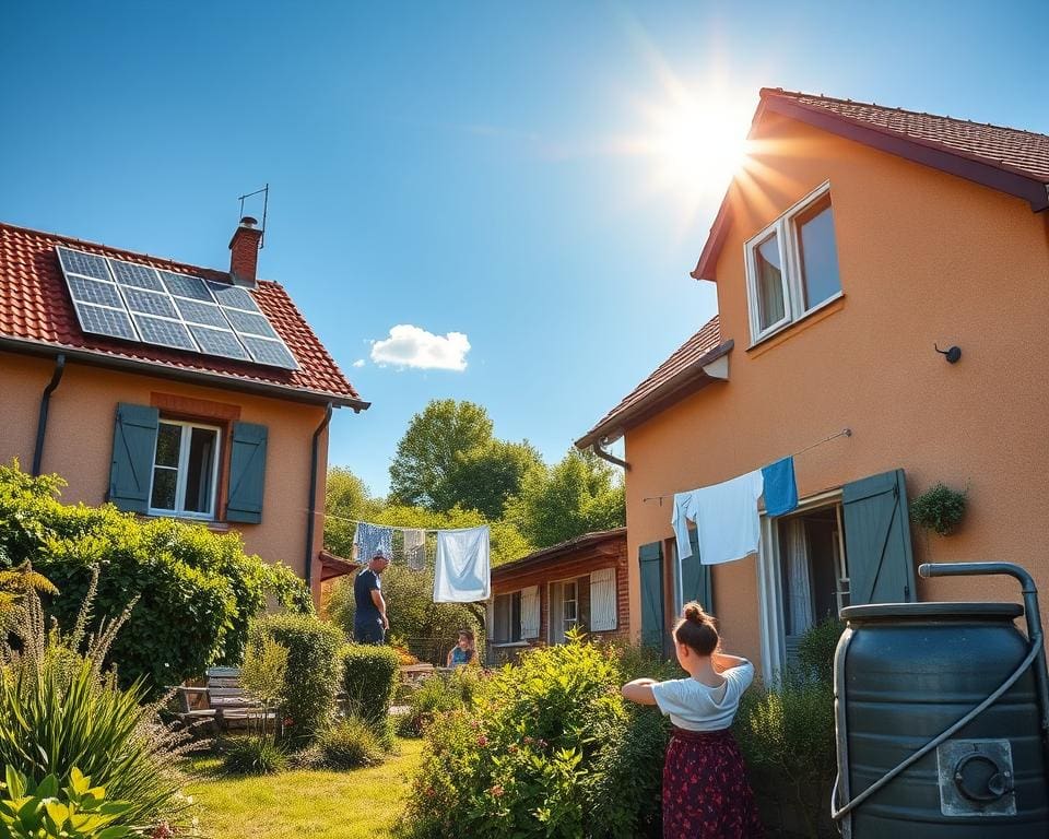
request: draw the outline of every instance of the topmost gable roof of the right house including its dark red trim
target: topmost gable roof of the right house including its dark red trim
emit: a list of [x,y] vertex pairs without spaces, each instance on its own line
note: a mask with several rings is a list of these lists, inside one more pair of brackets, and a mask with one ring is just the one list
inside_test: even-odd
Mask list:
[[[986,122],[763,87],[751,133],[766,110],[888,154],[930,166],[1049,209],[1049,135]],[[692,275],[717,280],[721,246],[732,223],[726,200],[710,227]]]

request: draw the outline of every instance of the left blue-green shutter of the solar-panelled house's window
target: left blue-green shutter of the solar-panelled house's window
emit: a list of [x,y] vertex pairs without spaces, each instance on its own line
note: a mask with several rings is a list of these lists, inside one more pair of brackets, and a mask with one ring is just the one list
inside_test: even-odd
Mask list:
[[117,405],[113,429],[113,462],[109,466],[109,500],[121,510],[146,512],[156,428],[161,412],[146,405]]

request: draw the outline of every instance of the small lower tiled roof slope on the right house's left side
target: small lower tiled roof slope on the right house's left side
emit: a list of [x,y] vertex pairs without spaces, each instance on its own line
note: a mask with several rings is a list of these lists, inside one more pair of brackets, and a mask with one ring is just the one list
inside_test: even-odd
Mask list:
[[622,432],[630,415],[637,415],[670,392],[676,392],[677,388],[685,383],[682,378],[693,381],[695,374],[702,373],[703,365],[709,364],[730,348],[731,343],[721,342],[721,323],[715,315],[703,329],[679,346],[650,376],[624,397],[620,404],[580,437],[576,446],[585,449],[604,437]]

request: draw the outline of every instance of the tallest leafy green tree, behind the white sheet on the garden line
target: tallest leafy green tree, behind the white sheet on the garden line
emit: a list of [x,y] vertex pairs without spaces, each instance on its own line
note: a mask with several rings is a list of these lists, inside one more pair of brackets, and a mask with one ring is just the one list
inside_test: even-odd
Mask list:
[[390,464],[390,498],[393,501],[448,509],[446,482],[459,465],[459,456],[484,449],[492,441],[488,412],[473,402],[438,399],[415,414],[397,445]]

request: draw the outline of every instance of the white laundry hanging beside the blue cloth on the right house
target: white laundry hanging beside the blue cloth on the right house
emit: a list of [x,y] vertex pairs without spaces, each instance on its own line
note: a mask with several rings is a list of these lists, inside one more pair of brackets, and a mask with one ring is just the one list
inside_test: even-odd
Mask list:
[[677,557],[692,556],[688,523],[696,522],[699,562],[719,565],[757,553],[762,537],[757,499],[762,496],[762,471],[755,470],[714,486],[674,496],[671,523],[677,537]]

